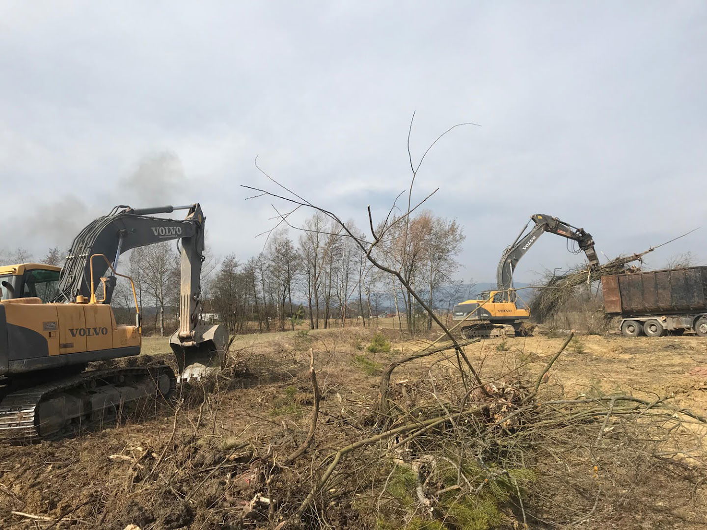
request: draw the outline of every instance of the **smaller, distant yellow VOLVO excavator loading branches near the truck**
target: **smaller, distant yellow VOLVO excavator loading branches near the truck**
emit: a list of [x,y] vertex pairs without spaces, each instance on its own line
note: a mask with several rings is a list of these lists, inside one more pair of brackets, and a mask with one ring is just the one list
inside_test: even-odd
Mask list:
[[[579,251],[583,251],[589,261],[590,269],[599,266],[599,257],[594,249],[592,236],[583,228],[565,223],[553,216],[536,213],[530,216],[534,226],[527,230],[530,221],[506,247],[496,269],[496,290],[484,291],[477,300],[467,300],[455,305],[452,319],[457,322],[468,322],[461,328],[464,338],[493,338],[515,334],[526,334],[525,322],[530,319],[530,307],[522,303],[518,293],[513,288],[513,271],[518,261],[537,242],[545,232],[566,237],[577,242]],[[520,302],[520,303],[519,303]]]

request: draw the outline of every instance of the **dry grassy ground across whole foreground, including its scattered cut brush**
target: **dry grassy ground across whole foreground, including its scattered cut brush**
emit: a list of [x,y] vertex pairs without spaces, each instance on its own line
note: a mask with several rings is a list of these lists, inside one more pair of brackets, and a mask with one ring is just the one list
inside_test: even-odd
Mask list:
[[[706,515],[699,422],[617,397],[673,394],[678,408],[704,408],[703,382],[686,375],[707,363],[707,343],[696,338],[582,337],[581,353],[565,351],[551,367],[539,401],[527,396],[565,339],[506,338],[501,349],[484,341],[466,349],[489,396],[467,395],[453,355],[440,353],[394,372],[390,414],[381,417],[379,378],[356,356],[386,365],[424,341],[393,338],[391,352],[370,353],[372,331],[361,329],[268,337],[233,351],[231,377],[183,387],[180,406],[156,405],[73,439],[0,446],[0,526],[37,527],[12,512],[47,517],[40,528],[119,530],[285,520],[337,529],[660,528]],[[312,445],[283,466],[310,428],[310,350],[319,422]],[[443,420],[420,428],[435,416]],[[375,440],[411,423],[407,435]],[[327,455],[371,437],[317,487]]]

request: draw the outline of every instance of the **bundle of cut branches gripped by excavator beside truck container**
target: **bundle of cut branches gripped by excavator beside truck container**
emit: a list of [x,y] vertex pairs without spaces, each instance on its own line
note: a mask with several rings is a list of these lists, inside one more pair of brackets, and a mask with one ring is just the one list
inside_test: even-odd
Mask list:
[[[647,251],[650,252],[650,251]],[[538,322],[545,322],[559,311],[565,302],[572,298],[580,285],[592,285],[600,281],[602,276],[640,271],[640,266],[630,265],[633,261],[641,262],[641,254],[619,256],[595,269],[588,264],[582,264],[570,269],[560,276],[552,276],[549,281],[537,288],[537,293],[530,302],[530,314]]]

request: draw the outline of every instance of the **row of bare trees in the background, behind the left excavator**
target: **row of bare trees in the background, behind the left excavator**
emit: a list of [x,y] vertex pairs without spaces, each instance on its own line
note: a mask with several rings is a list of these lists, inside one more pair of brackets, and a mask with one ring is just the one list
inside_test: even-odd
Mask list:
[[[360,233],[353,223],[347,228]],[[425,293],[428,305],[448,312],[462,293],[453,278],[463,228],[455,221],[421,211],[406,224],[387,232],[373,252],[387,266]],[[26,263],[24,249],[0,254],[4,263]],[[62,252],[50,249],[40,260],[62,264]],[[180,257],[173,242],[133,249],[121,261],[132,276],[146,327],[160,334],[177,326]],[[127,269],[127,270],[126,270]],[[225,324],[230,334],[284,331],[308,324],[310,329],[333,326],[375,326],[380,314],[395,315],[403,330],[429,329],[431,317],[396,278],[382,275],[360,247],[344,237],[341,227],[315,213],[299,230],[281,227],[267,235],[262,252],[243,259],[228,254],[216,260],[207,253],[202,269],[202,317]],[[132,291],[119,281],[113,305],[116,312],[133,305]]]

